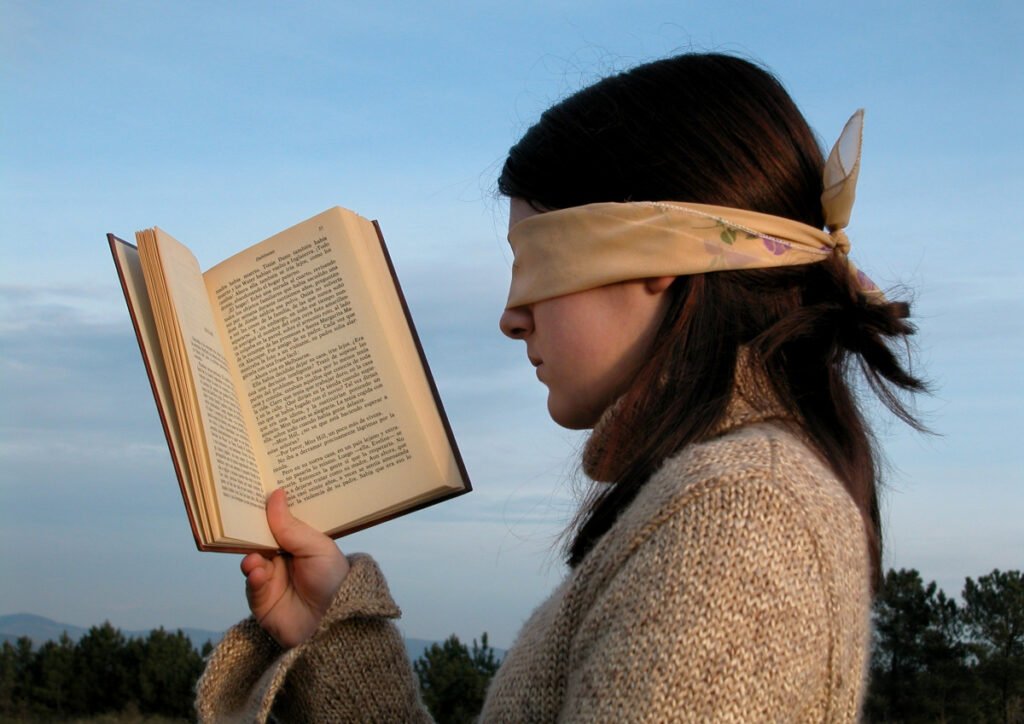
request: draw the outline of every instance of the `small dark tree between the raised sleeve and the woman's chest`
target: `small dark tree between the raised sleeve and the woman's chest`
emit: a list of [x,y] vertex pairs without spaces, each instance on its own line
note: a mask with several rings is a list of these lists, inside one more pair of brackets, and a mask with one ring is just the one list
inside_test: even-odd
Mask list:
[[414,664],[423,701],[438,724],[476,721],[490,678],[498,671],[487,635],[472,650],[452,635],[442,644],[431,644]]

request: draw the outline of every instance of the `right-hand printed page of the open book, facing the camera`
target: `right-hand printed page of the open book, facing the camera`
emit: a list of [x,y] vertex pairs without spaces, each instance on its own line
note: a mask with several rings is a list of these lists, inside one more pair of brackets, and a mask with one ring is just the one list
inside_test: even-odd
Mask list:
[[368,290],[381,281],[364,279],[347,217],[376,235],[334,209],[205,275],[264,465],[322,530],[442,485]]

